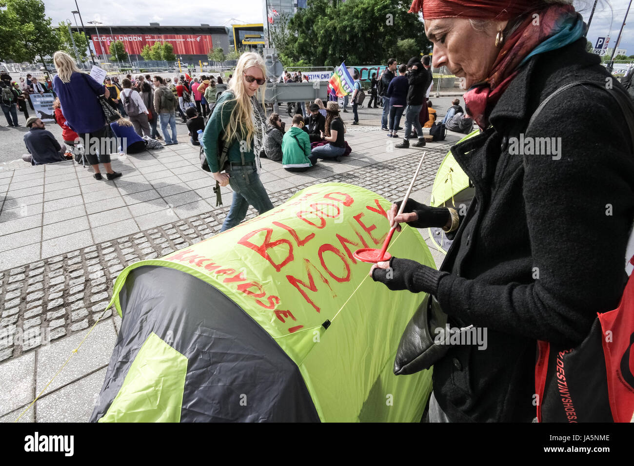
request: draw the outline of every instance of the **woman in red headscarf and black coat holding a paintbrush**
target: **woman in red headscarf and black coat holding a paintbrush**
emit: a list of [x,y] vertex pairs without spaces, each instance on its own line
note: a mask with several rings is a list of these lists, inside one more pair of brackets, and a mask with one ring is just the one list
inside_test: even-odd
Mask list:
[[[416,0],[410,11],[422,11],[433,66],[469,89],[466,112],[482,131],[451,152],[475,195],[468,209],[408,200],[397,216],[393,205],[392,224],[443,228],[453,244],[439,271],[393,257],[370,276],[431,294],[448,327],[485,336],[431,361],[430,420],[531,422],[536,341],[578,346],[623,293],[631,104],[616,105],[623,89],[585,51],[571,1]],[[415,340],[410,327],[401,347]]]

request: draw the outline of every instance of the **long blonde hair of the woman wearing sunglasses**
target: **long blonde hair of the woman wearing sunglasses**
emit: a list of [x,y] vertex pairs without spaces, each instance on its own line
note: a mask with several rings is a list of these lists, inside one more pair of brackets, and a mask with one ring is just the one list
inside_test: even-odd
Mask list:
[[[231,84],[228,89],[235,95],[236,106],[233,107],[233,110],[231,111],[229,123],[224,126],[224,141],[230,143],[231,139],[235,137],[245,138],[248,150],[252,148],[253,135],[256,132],[256,127],[253,124],[254,115],[251,98],[249,97],[249,94],[247,94],[247,89],[242,75],[245,70],[248,70],[250,67],[260,68],[262,76],[266,80],[266,65],[264,65],[264,59],[262,56],[253,52],[243,53],[238,60],[235,75],[233,76],[233,79],[231,79]],[[262,84],[262,86],[258,89],[260,93],[259,100],[262,102],[262,105],[264,105],[264,89],[266,89],[266,83]],[[222,115],[222,108],[220,111],[220,114]],[[246,129],[247,134],[242,133],[242,128]]]

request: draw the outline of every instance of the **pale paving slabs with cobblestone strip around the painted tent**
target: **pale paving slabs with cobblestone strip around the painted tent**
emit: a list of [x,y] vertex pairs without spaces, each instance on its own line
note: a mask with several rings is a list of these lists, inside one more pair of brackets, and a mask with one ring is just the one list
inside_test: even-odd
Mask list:
[[[429,199],[437,167],[450,146],[459,138],[459,135],[450,135],[444,143],[430,143],[425,147],[427,157],[415,183],[413,198],[422,201]],[[303,174],[289,174],[281,169],[280,164],[262,160],[262,181],[273,204],[280,205],[298,190],[328,181],[363,186],[389,200],[402,198],[420,160],[422,150],[410,148],[392,151],[389,142],[385,142],[385,133],[376,126],[349,128],[346,139],[353,146],[353,153],[349,159],[340,164],[320,161],[318,167]],[[118,160],[119,168],[127,168],[128,173],[124,172],[124,178],[120,181],[108,182],[110,191],[96,191],[102,194],[107,193],[103,200],[99,200],[98,195],[93,195],[95,191],[82,189],[82,186],[102,185],[94,184],[94,180],[89,179],[92,177],[82,169],[81,165],[66,162],[55,164],[66,165],[63,169],[67,178],[63,181],[73,184],[70,188],[60,185],[57,190],[73,190],[74,188],[79,190],[79,194],[77,191],[67,191],[57,199],[63,201],[69,197],[82,198],[82,202],[78,202],[75,207],[84,209],[77,210],[81,211],[80,216],[88,217],[88,229],[84,231],[89,234],[85,241],[80,238],[74,242],[74,236],[81,233],[76,229],[82,228],[82,224],[77,222],[77,217],[72,217],[76,216],[77,212],[66,212],[66,209],[74,206],[61,207],[49,210],[49,212],[56,212],[54,216],[56,222],[52,224],[64,223],[70,218],[75,221],[72,225],[75,230],[64,230],[60,226],[54,229],[56,234],[65,238],[60,245],[51,247],[50,250],[56,251],[56,254],[44,257],[42,255],[44,250],[41,249],[37,260],[29,261],[28,257],[31,256],[25,254],[23,257],[27,259],[23,263],[15,262],[20,259],[18,252],[41,247],[42,231],[38,231],[37,242],[21,245],[17,249],[4,249],[3,254],[9,254],[14,262],[12,266],[0,271],[0,295],[2,296],[0,300],[0,380],[3,380],[3,388],[10,387],[0,396],[0,421],[15,420],[24,407],[46,385],[45,382],[48,382],[49,377],[56,372],[56,368],[84,338],[87,329],[93,327],[97,318],[101,316],[102,321],[91,333],[86,351],[82,347],[81,363],[77,363],[75,368],[72,365],[65,368],[65,377],[56,380],[56,383],[48,388],[44,397],[39,399],[34,408],[29,410],[21,420],[44,422],[87,419],[94,405],[93,401],[86,399],[87,395],[82,398],[81,403],[77,404],[72,415],[65,415],[60,406],[65,403],[65,400],[72,399],[73,392],[84,390],[82,389],[84,385],[90,387],[86,390],[92,397],[93,392],[98,392],[103,383],[105,367],[115,344],[120,318],[117,315],[113,316],[112,309],[103,316],[102,314],[110,301],[112,285],[117,275],[133,262],[162,257],[174,250],[183,249],[213,236],[219,231],[228,212],[231,203],[230,190],[224,191],[224,206],[212,207],[212,204],[215,204],[210,194],[212,179],[210,181],[207,174],[204,174],[204,177],[198,176],[200,168],[195,163],[197,152],[198,148],[193,146],[179,145],[178,152],[172,150],[172,152],[161,152],[160,155],[148,153],[134,159],[133,156],[129,156],[127,160]],[[113,162],[113,165],[115,163]],[[147,167],[154,168],[147,171]],[[194,167],[195,171],[191,167]],[[40,193],[42,197],[34,200],[32,205],[29,204],[29,209],[32,207],[39,213],[3,221],[3,214],[21,207],[19,205],[18,207],[11,206],[10,209],[0,207],[0,235],[4,235],[0,237],[0,241],[7,235],[15,235],[15,233],[4,233],[6,230],[2,230],[6,223],[12,221],[22,222],[22,225],[16,224],[16,228],[22,228],[16,233],[23,234],[37,228],[44,230],[49,225],[43,220],[47,213],[46,203],[49,202],[46,201],[46,194],[56,190],[46,189],[48,169],[49,167],[46,167],[44,170],[44,189]],[[58,170],[60,169],[55,168],[51,172],[55,172],[55,176],[60,176]],[[23,180],[26,179],[24,174],[16,175],[18,172],[23,170],[16,170],[10,175],[11,179],[20,176]],[[163,172],[162,176],[154,178],[152,173],[157,172]],[[143,179],[131,180],[139,176]],[[172,176],[174,179],[165,181]],[[193,176],[197,178],[190,178]],[[0,171],[0,177],[3,177],[0,178],[0,182],[2,179],[9,178],[6,171]],[[31,179],[42,180],[42,177]],[[153,183],[156,180],[159,182]],[[29,180],[26,179],[26,181]],[[53,181],[60,183],[56,179]],[[160,181],[163,185],[159,185]],[[12,183],[13,181],[4,184],[5,193],[13,192],[10,186]],[[77,186],[74,186],[75,183]],[[137,186],[131,186],[131,183]],[[0,185],[0,197],[3,193],[2,186]],[[34,183],[32,186],[35,186],[34,189],[39,192],[37,188],[39,184]],[[171,186],[184,186],[185,189],[179,191]],[[113,187],[117,190],[116,195],[113,194]],[[18,185],[18,190],[28,189]],[[156,196],[154,193],[150,196],[148,191],[156,191],[158,197],[154,197]],[[144,192],[146,195],[139,194]],[[32,196],[26,191],[21,194]],[[168,197],[173,200],[175,195],[181,196],[180,202],[166,201]],[[5,196],[2,204],[6,204],[7,198],[9,197]],[[207,202],[207,199],[210,201]],[[95,204],[106,205],[109,208],[93,212],[92,209],[97,207]],[[119,204],[121,204],[120,207]],[[182,205],[189,204],[195,204],[195,209],[179,209]],[[38,205],[44,207],[40,210]],[[146,210],[149,210],[150,214],[160,213],[153,216],[151,222],[139,223],[139,217],[148,215]],[[104,214],[101,219],[101,222],[105,223],[96,226],[100,223],[95,220],[98,217],[90,216],[99,212],[107,212],[107,214]],[[254,217],[256,214],[254,209],[250,209],[247,218]],[[38,217],[41,223],[29,223],[30,221],[25,220],[29,217]],[[77,226],[78,224],[80,226]],[[148,228],[141,228],[142,225],[148,225]],[[107,235],[108,231],[112,234],[101,236],[100,233],[95,236],[95,230],[101,226],[108,226],[103,235]],[[427,240],[426,232],[421,231],[421,233]],[[442,255],[433,250],[432,255],[438,264]],[[1,266],[0,269],[2,269]]]

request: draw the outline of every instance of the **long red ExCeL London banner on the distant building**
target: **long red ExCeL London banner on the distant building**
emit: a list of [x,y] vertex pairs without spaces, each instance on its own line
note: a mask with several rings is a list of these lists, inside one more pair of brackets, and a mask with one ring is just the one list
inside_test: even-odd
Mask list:
[[[155,42],[166,42],[174,46],[176,55],[207,55],[213,48],[210,34],[199,36],[192,34],[115,34],[114,36],[96,36],[93,46],[98,55],[110,55],[110,42],[121,41],[126,47],[126,52],[131,55],[141,55],[141,50],[146,44],[153,46]],[[103,48],[102,48],[103,46]]]

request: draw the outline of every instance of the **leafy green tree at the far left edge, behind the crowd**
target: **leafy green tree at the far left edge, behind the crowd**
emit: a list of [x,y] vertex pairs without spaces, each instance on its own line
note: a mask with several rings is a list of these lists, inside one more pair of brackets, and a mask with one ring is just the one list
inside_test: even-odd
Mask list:
[[60,38],[41,0],[0,0],[0,55],[5,60],[34,62],[60,49]]

